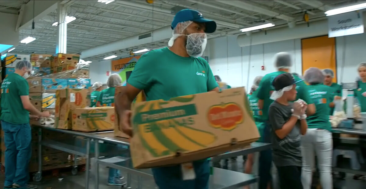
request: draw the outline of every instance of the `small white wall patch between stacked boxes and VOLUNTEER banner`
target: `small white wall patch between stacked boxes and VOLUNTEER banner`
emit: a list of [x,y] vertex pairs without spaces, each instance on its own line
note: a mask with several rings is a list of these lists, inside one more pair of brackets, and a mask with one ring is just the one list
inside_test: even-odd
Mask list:
[[108,77],[107,71],[109,71],[109,75],[111,75],[111,60],[104,61],[93,61],[90,63],[90,79],[91,83],[102,82],[103,84],[107,83]]

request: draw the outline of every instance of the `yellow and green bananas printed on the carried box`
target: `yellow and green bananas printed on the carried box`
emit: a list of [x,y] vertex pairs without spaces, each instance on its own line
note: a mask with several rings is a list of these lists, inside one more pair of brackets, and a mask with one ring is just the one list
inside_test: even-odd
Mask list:
[[[172,98],[169,101],[189,102],[194,95]],[[138,112],[161,109],[167,101],[146,102],[137,107]],[[146,124],[139,124],[137,131],[144,147],[155,157],[175,154],[180,151],[195,151],[213,143],[217,137],[213,133],[191,128],[180,124],[175,119],[160,120]]]

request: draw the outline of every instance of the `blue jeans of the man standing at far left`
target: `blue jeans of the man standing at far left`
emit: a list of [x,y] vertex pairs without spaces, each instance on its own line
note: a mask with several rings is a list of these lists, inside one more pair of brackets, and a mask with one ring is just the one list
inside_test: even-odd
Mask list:
[[29,181],[29,160],[31,156],[31,128],[29,124],[11,124],[1,121],[5,142],[5,182],[25,187]]

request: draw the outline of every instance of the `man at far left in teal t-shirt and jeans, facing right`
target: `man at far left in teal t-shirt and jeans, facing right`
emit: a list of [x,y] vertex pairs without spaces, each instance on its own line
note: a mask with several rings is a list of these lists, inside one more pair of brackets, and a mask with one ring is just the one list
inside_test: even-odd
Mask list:
[[29,100],[26,78],[31,71],[29,61],[19,61],[15,65],[15,72],[8,75],[1,84],[0,119],[6,147],[4,188],[37,188],[27,184],[32,135],[29,118],[49,117],[49,112],[38,111]]

